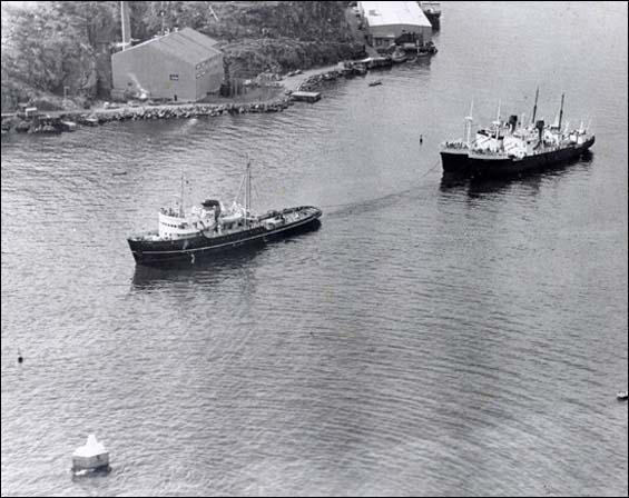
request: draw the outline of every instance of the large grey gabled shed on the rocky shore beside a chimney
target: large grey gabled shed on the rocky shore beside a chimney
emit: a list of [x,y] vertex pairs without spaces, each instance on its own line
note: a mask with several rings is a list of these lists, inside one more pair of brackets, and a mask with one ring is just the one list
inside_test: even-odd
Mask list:
[[199,100],[220,89],[223,52],[191,28],[173,31],[114,53],[112,96]]

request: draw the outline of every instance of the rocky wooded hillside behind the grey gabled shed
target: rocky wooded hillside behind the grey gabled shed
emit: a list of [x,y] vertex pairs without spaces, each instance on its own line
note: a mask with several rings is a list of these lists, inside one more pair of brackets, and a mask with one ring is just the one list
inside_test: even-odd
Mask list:
[[[190,27],[220,41],[227,73],[252,77],[336,62],[360,47],[346,29],[346,2],[130,1],[131,34]],[[109,98],[110,57],[120,41],[120,2],[42,1],[3,7],[2,109],[45,96],[60,103]]]

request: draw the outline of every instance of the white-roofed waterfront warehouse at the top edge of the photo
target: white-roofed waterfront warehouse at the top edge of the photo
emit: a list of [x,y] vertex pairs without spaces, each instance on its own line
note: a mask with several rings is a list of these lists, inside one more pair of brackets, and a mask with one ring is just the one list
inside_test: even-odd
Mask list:
[[416,1],[358,2],[361,17],[372,47],[386,49],[402,34],[410,34],[419,44],[432,39],[432,24]]

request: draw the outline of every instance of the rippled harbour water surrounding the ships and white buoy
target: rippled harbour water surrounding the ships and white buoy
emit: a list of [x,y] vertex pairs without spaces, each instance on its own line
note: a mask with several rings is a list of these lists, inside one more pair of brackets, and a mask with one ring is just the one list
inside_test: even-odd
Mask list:
[[[626,3],[444,3],[436,57],[314,106],[3,137],[2,495],[626,496]],[[588,160],[431,170],[538,84]],[[230,199],[247,153],[322,228],[136,269],[180,171]],[[72,480],[89,432],[112,471]]]

